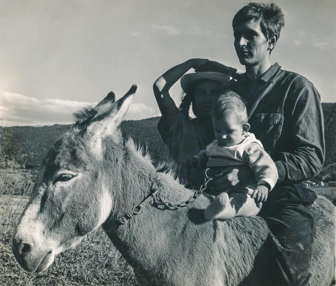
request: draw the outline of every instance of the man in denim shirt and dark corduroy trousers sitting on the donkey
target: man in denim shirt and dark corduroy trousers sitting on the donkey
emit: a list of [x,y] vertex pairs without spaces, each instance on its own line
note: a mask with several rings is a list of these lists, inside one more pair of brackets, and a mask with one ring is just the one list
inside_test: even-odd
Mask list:
[[[237,79],[232,89],[245,100],[251,132],[274,160],[279,179],[269,193],[260,215],[282,249],[269,251],[274,273],[269,285],[306,285],[315,222],[310,210],[316,194],[300,182],[316,176],[325,156],[324,124],[320,94],[306,78],[272,65],[270,53],[276,46],[284,14],[274,3],[250,3],[233,19],[234,45],[246,72],[209,61],[197,70],[231,72]],[[227,173],[228,172],[228,173]],[[218,191],[235,188],[253,180],[251,171],[235,168],[214,182]]]

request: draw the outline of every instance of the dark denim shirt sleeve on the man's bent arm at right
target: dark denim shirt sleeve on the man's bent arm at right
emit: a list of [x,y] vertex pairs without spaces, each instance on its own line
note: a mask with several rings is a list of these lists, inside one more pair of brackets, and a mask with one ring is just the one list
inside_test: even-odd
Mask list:
[[279,174],[278,183],[288,185],[311,179],[323,167],[325,143],[320,98],[309,81],[293,93],[290,132],[294,148],[291,153],[278,153],[273,157]]

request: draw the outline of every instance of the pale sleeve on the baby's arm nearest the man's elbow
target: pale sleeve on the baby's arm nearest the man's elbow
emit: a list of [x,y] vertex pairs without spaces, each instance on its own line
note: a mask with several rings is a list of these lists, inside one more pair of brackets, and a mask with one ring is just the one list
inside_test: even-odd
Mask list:
[[243,156],[254,171],[258,186],[266,183],[270,187],[269,191],[272,190],[278,180],[278,170],[267,152],[253,142],[245,147]]

